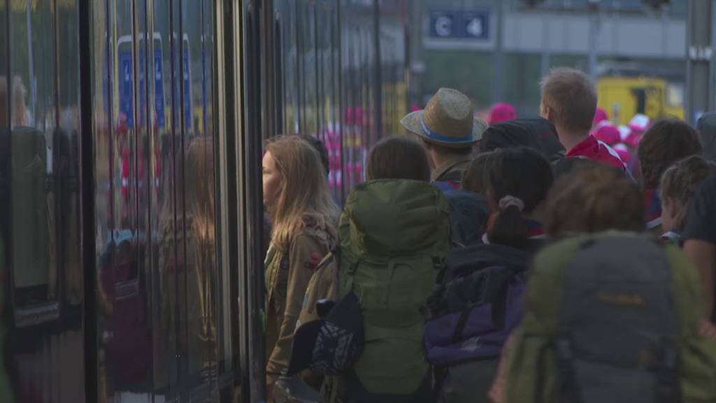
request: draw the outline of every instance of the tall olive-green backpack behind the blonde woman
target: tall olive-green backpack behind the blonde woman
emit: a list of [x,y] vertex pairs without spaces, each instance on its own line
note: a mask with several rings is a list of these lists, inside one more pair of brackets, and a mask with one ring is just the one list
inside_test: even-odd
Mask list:
[[422,307],[450,249],[448,214],[442,191],[422,181],[368,181],[348,196],[339,297],[360,300],[365,342],[353,369],[371,394],[411,394],[428,374]]

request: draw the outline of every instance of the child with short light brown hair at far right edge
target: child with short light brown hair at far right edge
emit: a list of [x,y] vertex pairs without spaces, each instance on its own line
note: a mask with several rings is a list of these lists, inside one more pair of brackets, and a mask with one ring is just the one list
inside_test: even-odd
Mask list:
[[686,225],[693,194],[712,174],[716,174],[716,163],[706,161],[702,156],[684,158],[664,171],[659,186],[664,242],[682,245],[681,233]]

